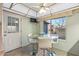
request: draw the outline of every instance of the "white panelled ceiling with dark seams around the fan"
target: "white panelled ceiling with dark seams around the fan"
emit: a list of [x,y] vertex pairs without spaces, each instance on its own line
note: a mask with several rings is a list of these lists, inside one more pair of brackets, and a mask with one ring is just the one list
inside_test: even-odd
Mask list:
[[43,3],[4,3],[3,7],[5,10],[18,11],[18,13],[20,12],[20,14],[22,13],[25,16],[40,17],[50,14],[50,11],[51,13],[54,13],[79,6],[79,3],[46,3],[45,6],[49,7],[50,10],[47,10],[46,13],[40,14],[38,12],[42,4]]

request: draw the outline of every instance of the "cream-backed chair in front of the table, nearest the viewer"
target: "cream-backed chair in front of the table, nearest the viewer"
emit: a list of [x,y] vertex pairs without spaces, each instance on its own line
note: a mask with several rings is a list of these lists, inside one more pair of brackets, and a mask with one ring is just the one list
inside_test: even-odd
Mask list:
[[43,50],[43,56],[45,56],[45,50],[46,49],[52,49],[52,43],[49,39],[39,39],[38,40],[38,47],[39,49]]

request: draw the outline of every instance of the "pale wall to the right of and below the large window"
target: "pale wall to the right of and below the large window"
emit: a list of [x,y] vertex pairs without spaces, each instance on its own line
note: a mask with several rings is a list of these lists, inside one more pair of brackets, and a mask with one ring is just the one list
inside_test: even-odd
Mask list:
[[69,51],[79,40],[79,13],[69,16],[66,21],[66,40],[59,40],[59,43],[54,44],[54,47]]

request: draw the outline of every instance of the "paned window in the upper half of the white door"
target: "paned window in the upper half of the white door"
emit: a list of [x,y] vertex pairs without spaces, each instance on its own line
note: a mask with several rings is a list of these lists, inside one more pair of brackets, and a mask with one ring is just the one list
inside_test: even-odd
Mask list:
[[8,16],[8,33],[19,32],[19,18]]

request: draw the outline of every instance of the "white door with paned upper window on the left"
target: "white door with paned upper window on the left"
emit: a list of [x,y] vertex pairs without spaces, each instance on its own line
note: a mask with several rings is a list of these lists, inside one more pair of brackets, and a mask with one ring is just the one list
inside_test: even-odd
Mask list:
[[3,38],[6,52],[21,47],[19,20],[18,17],[4,15]]

